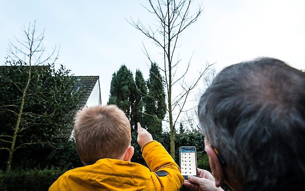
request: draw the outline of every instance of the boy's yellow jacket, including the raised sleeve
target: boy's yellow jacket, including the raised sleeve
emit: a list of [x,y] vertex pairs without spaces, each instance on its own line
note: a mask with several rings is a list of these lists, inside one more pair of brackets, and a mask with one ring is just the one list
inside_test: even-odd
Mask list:
[[138,163],[100,159],[92,165],[65,172],[51,185],[49,191],[171,191],[181,187],[184,182],[181,170],[159,142],[152,141],[146,145],[142,156],[151,171]]

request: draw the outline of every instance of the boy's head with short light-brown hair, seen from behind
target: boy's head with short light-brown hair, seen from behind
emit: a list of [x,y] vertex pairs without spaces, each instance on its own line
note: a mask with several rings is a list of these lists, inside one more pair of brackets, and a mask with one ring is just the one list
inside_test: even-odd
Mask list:
[[129,120],[115,105],[79,110],[74,133],[77,152],[84,165],[103,158],[130,161],[133,155]]

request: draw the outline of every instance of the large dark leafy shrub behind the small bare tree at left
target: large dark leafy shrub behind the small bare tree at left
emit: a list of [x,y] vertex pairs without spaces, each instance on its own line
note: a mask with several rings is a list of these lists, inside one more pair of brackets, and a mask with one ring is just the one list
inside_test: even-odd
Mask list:
[[[0,169],[4,169],[15,131],[22,90],[30,67],[7,62],[0,67]],[[75,80],[63,66],[31,67],[20,127],[17,132],[13,162],[20,167],[24,156],[33,150],[52,146],[54,137],[71,125],[73,111],[78,107],[80,92],[74,89]],[[18,87],[17,87],[18,86]],[[47,146],[48,145],[48,146]],[[53,145],[56,146],[56,145]],[[29,161],[31,158],[28,158]],[[19,163],[19,164],[18,164]],[[14,164],[12,165],[14,167]]]

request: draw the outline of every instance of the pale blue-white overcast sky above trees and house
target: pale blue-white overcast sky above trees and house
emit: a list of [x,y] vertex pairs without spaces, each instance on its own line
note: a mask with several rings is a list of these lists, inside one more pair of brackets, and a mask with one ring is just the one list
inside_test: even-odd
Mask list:
[[[125,20],[132,17],[144,24],[154,22],[140,2],[148,4],[140,0],[0,0],[0,61],[5,61],[8,39],[13,35],[20,38],[20,27],[36,20],[38,32],[45,28],[44,45],[48,49],[60,45],[59,63],[75,75],[99,75],[102,104],[106,104],[112,74],[121,64],[133,73],[140,69],[145,79],[148,77],[142,42],[154,60],[162,62],[158,49]],[[206,0],[202,5],[204,14],[179,41],[182,64],[194,53],[192,75],[206,61],[216,62],[218,72],[262,56],[305,69],[305,1]]]

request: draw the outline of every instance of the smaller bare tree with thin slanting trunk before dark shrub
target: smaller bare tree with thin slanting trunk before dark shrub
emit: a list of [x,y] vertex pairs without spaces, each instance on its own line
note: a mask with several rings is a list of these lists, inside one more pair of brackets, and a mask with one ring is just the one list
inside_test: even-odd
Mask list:
[[[39,93],[46,93],[46,92],[34,92],[29,93],[28,89],[30,86],[31,81],[37,80],[33,79],[33,70],[34,66],[40,66],[48,64],[49,66],[51,64],[54,64],[54,62],[58,59],[59,49],[56,48],[56,46],[53,48],[52,52],[45,56],[45,47],[43,46],[43,40],[44,40],[44,31],[37,35],[36,34],[36,28],[35,28],[35,22],[33,25],[29,23],[29,26],[26,28],[25,26],[21,28],[23,31],[23,35],[25,36],[24,40],[17,39],[15,36],[16,44],[9,41],[9,48],[7,50],[7,66],[25,66],[27,70],[27,80],[25,84],[22,84],[20,82],[12,81],[8,76],[1,75],[1,78],[10,81],[11,83],[16,86],[17,90],[21,92],[22,96],[18,98],[18,100],[12,100],[12,101],[18,101],[18,104],[12,104],[12,105],[3,105],[1,104],[1,109],[5,110],[7,112],[12,112],[14,121],[16,121],[15,125],[10,127],[11,130],[13,130],[12,135],[8,134],[1,134],[0,135],[0,141],[9,143],[9,147],[1,147],[0,149],[5,149],[9,151],[9,158],[7,161],[7,169],[11,168],[13,153],[18,148],[22,148],[26,145],[35,144],[34,142],[26,142],[22,143],[18,146],[15,145],[16,139],[20,136],[19,133],[21,131],[26,130],[26,128],[30,127],[22,127],[20,126],[20,123],[22,121],[26,120],[27,116],[30,116],[31,118],[31,124],[34,125],[35,118],[46,116],[47,114],[35,114],[32,112],[25,112],[24,111],[24,105],[25,100],[27,96],[30,96],[31,94],[39,94]],[[19,105],[20,104],[20,105]],[[9,109],[13,108],[13,109]],[[28,123],[28,122],[27,122]],[[36,124],[37,125],[37,124]]]

